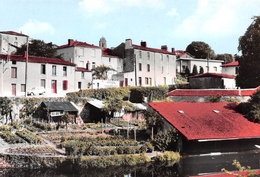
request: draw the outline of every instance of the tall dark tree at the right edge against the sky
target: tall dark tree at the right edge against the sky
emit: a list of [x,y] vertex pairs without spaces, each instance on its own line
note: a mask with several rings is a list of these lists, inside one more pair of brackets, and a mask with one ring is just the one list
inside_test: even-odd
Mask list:
[[239,74],[236,83],[241,88],[260,85],[260,16],[253,19],[245,34],[239,38],[238,50],[242,56],[238,58]]

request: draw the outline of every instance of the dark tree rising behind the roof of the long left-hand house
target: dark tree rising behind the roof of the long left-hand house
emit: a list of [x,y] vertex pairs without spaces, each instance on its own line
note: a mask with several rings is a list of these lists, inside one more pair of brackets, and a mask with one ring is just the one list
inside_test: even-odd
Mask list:
[[[56,45],[45,43],[42,40],[32,40],[28,46],[28,53],[30,56],[47,57],[47,58],[61,58],[62,54],[57,54]],[[17,47],[15,54],[24,55],[27,45],[23,44],[21,47]]]

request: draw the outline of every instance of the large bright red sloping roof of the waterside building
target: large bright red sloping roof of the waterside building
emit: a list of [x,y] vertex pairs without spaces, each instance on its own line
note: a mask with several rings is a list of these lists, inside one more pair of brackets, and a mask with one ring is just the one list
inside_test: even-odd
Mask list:
[[149,103],[188,140],[260,138],[260,124],[248,121],[232,108],[234,105],[230,104],[234,103]]

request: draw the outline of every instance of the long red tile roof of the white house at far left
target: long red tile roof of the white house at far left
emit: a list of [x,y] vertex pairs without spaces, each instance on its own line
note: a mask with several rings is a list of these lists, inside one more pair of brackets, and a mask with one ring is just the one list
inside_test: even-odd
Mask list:
[[[21,61],[26,62],[26,57],[22,55],[6,55],[0,54],[0,58],[9,59],[11,61]],[[45,57],[37,57],[37,56],[28,56],[29,63],[50,63],[50,64],[58,64],[58,65],[68,65],[75,66],[74,63],[65,61],[59,58],[45,58]]]

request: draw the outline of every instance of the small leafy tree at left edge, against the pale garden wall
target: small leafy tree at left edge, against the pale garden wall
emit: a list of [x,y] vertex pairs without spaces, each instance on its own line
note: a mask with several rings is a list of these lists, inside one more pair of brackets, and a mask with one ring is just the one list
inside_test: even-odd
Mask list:
[[10,100],[7,97],[0,97],[0,113],[1,117],[6,119],[6,123],[8,121],[8,118],[13,122],[12,118],[12,111],[13,111],[13,106],[12,106],[12,100]]

